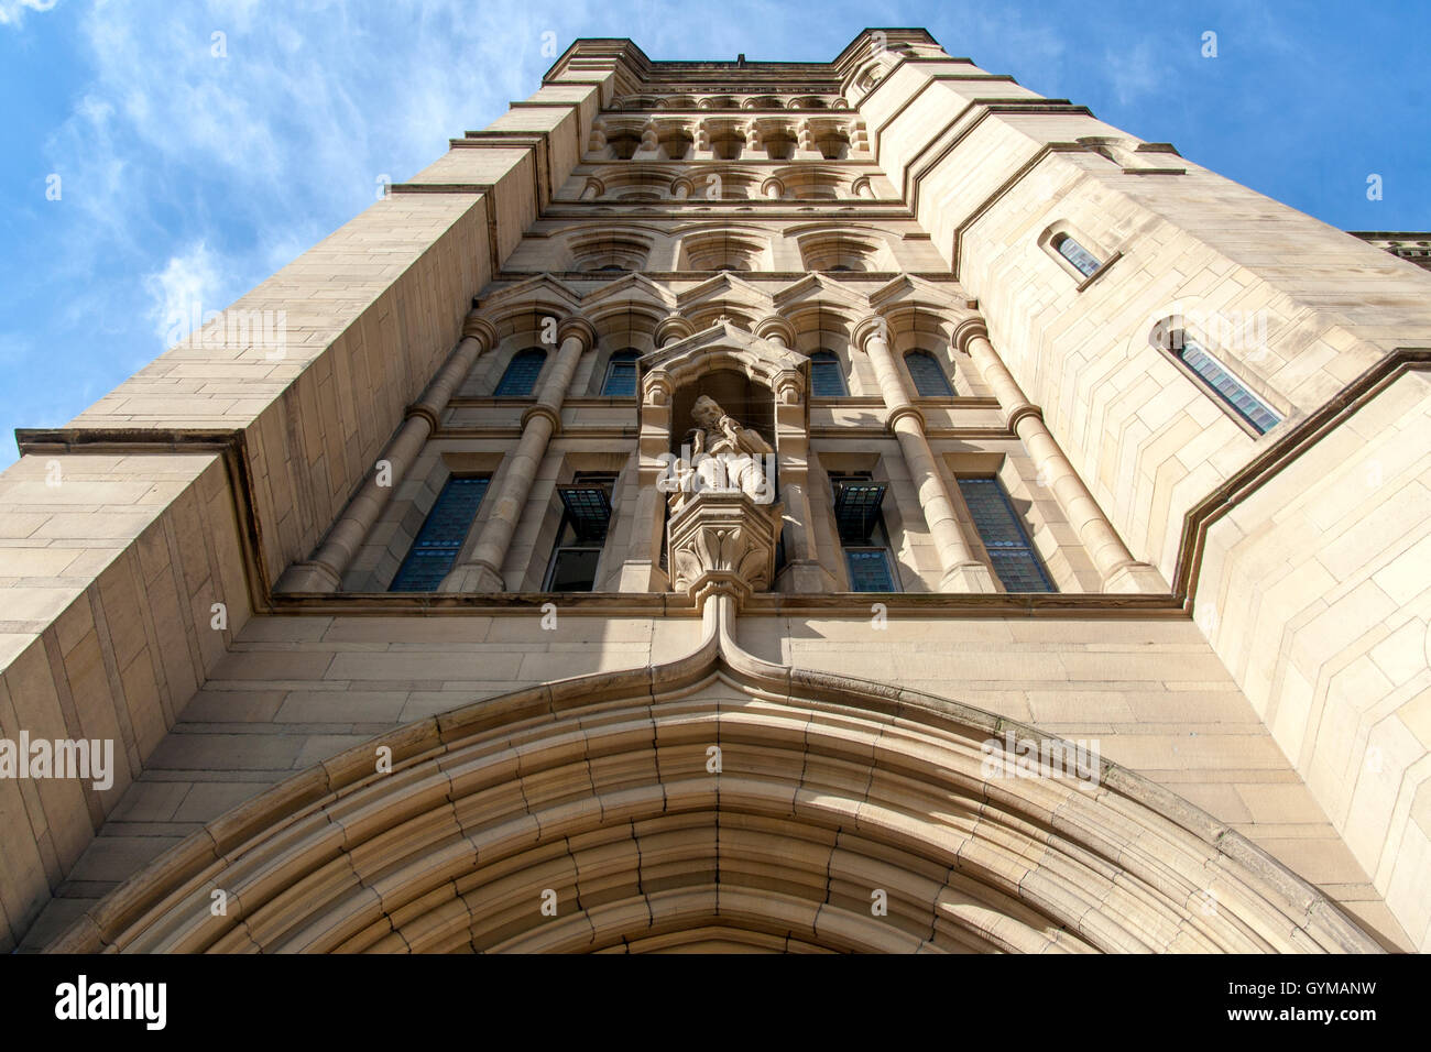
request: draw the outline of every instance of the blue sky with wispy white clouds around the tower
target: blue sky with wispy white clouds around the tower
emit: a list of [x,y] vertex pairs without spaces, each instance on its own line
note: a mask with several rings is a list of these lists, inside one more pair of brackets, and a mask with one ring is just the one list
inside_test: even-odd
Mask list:
[[544,34],[826,62],[866,26],[924,26],[1335,226],[1431,229],[1428,0],[0,0],[0,465],[13,428],[159,355],[172,312],[222,309],[528,97]]

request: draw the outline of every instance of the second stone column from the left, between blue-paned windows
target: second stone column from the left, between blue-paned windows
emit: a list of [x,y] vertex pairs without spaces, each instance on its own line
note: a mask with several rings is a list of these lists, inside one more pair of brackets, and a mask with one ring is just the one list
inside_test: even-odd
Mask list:
[[532,481],[547,455],[547,444],[561,429],[561,404],[571,386],[581,355],[597,342],[597,331],[585,318],[567,318],[557,328],[561,349],[537,395],[537,404],[522,414],[522,437],[508,457],[482,532],[461,564],[442,580],[439,591],[507,591],[502,562],[512,534],[521,522]]

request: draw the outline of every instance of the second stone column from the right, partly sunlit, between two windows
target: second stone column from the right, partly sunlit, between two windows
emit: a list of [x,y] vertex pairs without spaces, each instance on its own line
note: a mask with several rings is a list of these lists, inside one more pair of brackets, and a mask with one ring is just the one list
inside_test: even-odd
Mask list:
[[939,551],[944,570],[940,591],[997,591],[989,567],[975,558],[973,547],[964,537],[954,502],[949,495],[944,475],[924,437],[924,415],[909,399],[894,355],[890,354],[883,318],[871,316],[854,326],[854,344],[864,349],[874,365],[880,394],[887,409],[884,422],[899,438],[904,464],[919,490],[919,504],[924,511],[929,535]]

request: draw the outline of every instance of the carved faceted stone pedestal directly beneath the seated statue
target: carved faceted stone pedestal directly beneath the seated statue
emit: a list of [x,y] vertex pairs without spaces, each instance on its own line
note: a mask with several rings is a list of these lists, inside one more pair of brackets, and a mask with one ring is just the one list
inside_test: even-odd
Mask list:
[[743,600],[776,580],[784,507],[738,490],[674,492],[667,527],[671,587],[703,604],[717,593]]

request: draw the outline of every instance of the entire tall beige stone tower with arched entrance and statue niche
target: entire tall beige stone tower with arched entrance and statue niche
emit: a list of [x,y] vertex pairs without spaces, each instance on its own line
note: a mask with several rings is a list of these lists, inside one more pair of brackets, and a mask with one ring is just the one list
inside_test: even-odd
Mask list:
[[893,29],[391,190],[20,432],[0,946],[1427,948],[1424,235]]

